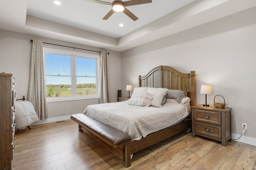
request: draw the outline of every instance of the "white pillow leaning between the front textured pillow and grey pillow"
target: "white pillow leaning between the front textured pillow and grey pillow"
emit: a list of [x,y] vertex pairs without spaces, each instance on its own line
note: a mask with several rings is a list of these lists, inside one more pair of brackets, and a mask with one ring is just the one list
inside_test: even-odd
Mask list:
[[166,95],[167,90],[168,90],[167,88],[148,87],[147,92],[154,95],[150,106],[162,107],[161,104],[164,96]]

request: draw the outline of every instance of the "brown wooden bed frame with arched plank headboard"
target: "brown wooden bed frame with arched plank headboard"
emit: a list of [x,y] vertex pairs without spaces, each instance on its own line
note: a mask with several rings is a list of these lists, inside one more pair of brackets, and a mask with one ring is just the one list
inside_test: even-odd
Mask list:
[[[191,99],[190,106],[196,105],[195,84],[195,71],[182,73],[170,66],[158,66],[150,70],[145,76],[138,76],[139,87],[150,86],[155,88],[183,90],[187,92],[187,96]],[[191,119],[188,118],[176,125],[151,133],[146,137],[142,137],[140,140],[125,142],[121,145],[113,145],[104,139],[104,137],[86,128],[78,121],[76,122],[78,123],[79,131],[87,132],[90,136],[94,137],[94,139],[100,141],[105,147],[123,160],[123,166],[126,168],[131,166],[130,154],[134,154],[142,149],[150,147],[191,127]]]

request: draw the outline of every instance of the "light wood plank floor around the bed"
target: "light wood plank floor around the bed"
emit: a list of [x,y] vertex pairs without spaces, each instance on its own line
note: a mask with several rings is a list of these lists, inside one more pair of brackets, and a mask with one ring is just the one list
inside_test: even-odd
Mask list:
[[[32,126],[16,133],[13,170],[126,169],[122,160],[73,121]],[[178,134],[132,158],[128,169],[256,169],[256,146],[219,142],[190,133]]]

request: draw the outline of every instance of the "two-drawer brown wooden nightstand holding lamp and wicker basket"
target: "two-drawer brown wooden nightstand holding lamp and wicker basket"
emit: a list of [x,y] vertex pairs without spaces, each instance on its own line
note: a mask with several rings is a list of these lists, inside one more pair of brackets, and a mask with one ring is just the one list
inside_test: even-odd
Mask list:
[[192,106],[192,137],[200,135],[227,146],[231,138],[230,107]]

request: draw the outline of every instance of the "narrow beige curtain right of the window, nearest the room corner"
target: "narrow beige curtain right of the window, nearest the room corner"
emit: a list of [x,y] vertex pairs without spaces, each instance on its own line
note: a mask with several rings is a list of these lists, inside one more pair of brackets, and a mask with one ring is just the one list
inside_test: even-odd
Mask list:
[[100,55],[100,103],[110,103],[108,54],[106,51],[102,51]]

